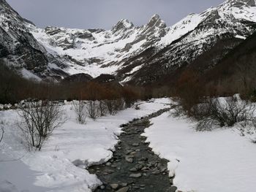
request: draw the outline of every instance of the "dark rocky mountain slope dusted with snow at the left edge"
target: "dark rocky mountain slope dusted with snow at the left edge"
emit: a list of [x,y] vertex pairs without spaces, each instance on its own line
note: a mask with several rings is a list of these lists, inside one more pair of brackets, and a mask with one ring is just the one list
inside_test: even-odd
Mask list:
[[48,64],[61,66],[61,62],[34,39],[25,26],[28,20],[21,18],[6,1],[0,0],[0,5],[0,58],[29,77],[54,77],[57,73],[53,74]]

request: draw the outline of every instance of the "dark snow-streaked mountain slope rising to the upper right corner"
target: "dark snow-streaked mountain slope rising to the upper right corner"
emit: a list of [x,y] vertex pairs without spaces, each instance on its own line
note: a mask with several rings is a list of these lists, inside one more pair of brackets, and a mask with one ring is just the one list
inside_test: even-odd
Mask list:
[[[140,85],[163,81],[163,77],[168,77],[170,80],[176,76],[178,69],[194,65],[194,61],[200,55],[222,42],[219,49],[223,51],[214,55],[211,60],[204,61],[203,69],[214,67],[233,47],[241,42],[241,38],[248,37],[256,30],[255,1],[246,2],[225,1],[218,7],[207,9],[200,15],[190,15],[192,18],[197,17],[196,22],[195,20],[190,21],[190,23],[198,23],[195,29],[163,49],[159,50],[158,48],[159,51],[151,55],[144,52],[140,54],[140,58],[130,58],[130,65],[143,65],[143,67],[132,75],[124,76],[122,72],[119,72],[119,75],[125,77],[125,81]],[[239,41],[237,37],[239,37]],[[166,37],[162,39],[166,42]]]

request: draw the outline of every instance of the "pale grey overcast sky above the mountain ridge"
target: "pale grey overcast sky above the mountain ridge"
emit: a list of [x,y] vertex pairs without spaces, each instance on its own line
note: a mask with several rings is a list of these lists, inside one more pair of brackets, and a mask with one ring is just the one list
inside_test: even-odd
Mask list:
[[203,12],[224,0],[7,0],[39,27],[111,28],[127,18],[135,26],[146,24],[158,14],[167,26],[191,12]]

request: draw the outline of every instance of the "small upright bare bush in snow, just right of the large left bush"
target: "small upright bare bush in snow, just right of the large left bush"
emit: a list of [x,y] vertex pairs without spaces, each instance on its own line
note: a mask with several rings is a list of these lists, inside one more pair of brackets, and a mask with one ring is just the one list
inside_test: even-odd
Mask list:
[[77,116],[78,123],[86,123],[86,104],[84,101],[73,101],[72,105]]

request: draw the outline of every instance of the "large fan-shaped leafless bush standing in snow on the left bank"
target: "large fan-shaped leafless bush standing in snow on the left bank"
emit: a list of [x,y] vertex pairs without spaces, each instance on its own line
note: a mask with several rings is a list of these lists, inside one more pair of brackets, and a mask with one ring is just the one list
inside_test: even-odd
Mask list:
[[64,123],[64,110],[51,101],[31,101],[19,105],[18,115],[22,121],[18,124],[23,131],[29,147],[41,150],[53,130]]

